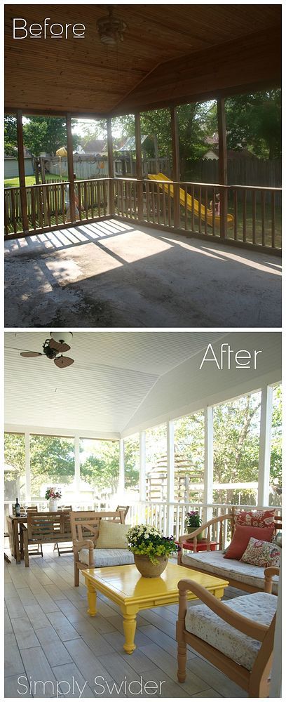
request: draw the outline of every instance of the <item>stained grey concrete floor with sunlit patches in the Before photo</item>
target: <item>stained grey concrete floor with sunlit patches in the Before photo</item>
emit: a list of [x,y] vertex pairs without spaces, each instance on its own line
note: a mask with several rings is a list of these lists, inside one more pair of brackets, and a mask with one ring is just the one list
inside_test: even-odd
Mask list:
[[6,327],[279,327],[276,256],[119,220],[6,241]]

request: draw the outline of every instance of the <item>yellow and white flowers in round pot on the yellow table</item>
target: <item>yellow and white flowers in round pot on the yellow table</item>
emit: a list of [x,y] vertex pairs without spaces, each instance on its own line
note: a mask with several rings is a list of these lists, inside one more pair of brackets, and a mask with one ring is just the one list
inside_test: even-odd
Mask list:
[[174,536],[162,536],[156,527],[139,524],[127,532],[128,549],[134,554],[135,566],[144,578],[158,578],[168,564],[168,558],[178,547]]

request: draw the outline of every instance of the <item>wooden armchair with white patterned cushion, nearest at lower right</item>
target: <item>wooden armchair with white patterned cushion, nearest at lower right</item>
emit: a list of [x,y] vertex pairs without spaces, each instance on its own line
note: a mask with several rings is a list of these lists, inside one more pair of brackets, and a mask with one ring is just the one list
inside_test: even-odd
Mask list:
[[[179,618],[176,630],[178,644],[177,677],[179,682],[186,680],[186,644],[189,644],[200,656],[206,658],[212,665],[219,668],[224,675],[227,675],[233,682],[245,689],[250,697],[268,696],[268,678],[271,672],[275,631],[275,601],[277,600],[276,597],[271,595],[271,581],[273,575],[279,574],[279,569],[266,568],[264,574],[266,580],[265,593],[257,592],[252,595],[235,597],[229,601],[231,606],[230,604],[219,602],[202,585],[198,585],[194,581],[179,581]],[[189,621],[187,621],[186,616],[188,611],[186,592],[188,590],[191,590],[204,603],[203,605],[189,608],[189,611],[191,611],[191,619],[189,618]],[[263,602],[261,598],[264,598]],[[261,618],[262,604],[264,611],[267,612],[268,624],[257,621],[259,618],[259,614],[256,616],[255,611],[257,602],[259,603],[257,614],[259,612]],[[245,608],[252,612],[253,618],[248,618],[241,614],[241,611]],[[210,618],[210,610],[217,616]],[[221,629],[219,621],[222,624]],[[224,622],[226,622],[227,627],[224,625]],[[245,639],[240,637],[239,634],[236,637],[236,633],[239,632],[245,635]],[[234,635],[234,638],[232,640],[229,639],[229,635],[232,637]],[[215,645],[212,645],[210,641]],[[231,641],[234,643],[232,644]],[[255,641],[261,642],[261,646],[257,646]],[[241,647],[243,647],[243,654],[240,651]],[[227,651],[228,655],[226,655],[225,651]],[[243,657],[245,659],[244,664]]]

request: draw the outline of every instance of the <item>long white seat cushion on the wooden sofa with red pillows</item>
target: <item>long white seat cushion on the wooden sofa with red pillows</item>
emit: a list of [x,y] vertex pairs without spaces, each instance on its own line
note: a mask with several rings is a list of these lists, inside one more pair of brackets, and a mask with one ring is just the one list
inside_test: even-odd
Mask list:
[[[200,571],[207,571],[214,576],[218,575],[228,580],[236,580],[239,583],[252,585],[257,590],[264,590],[264,568],[251,566],[249,563],[225,559],[223,551],[203,551],[182,555],[182,564],[189,568],[198,568]],[[191,576],[190,576],[191,577]],[[278,592],[278,576],[273,577],[272,592]]]

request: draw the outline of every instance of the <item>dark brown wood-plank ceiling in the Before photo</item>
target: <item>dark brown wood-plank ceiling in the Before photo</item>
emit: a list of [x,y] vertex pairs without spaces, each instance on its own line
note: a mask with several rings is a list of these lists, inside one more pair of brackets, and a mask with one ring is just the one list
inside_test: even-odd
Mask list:
[[[116,48],[97,34],[106,8],[5,6],[8,110],[100,116],[279,83],[280,5],[116,5],[128,24]],[[19,16],[83,22],[86,36],[16,40]]]

